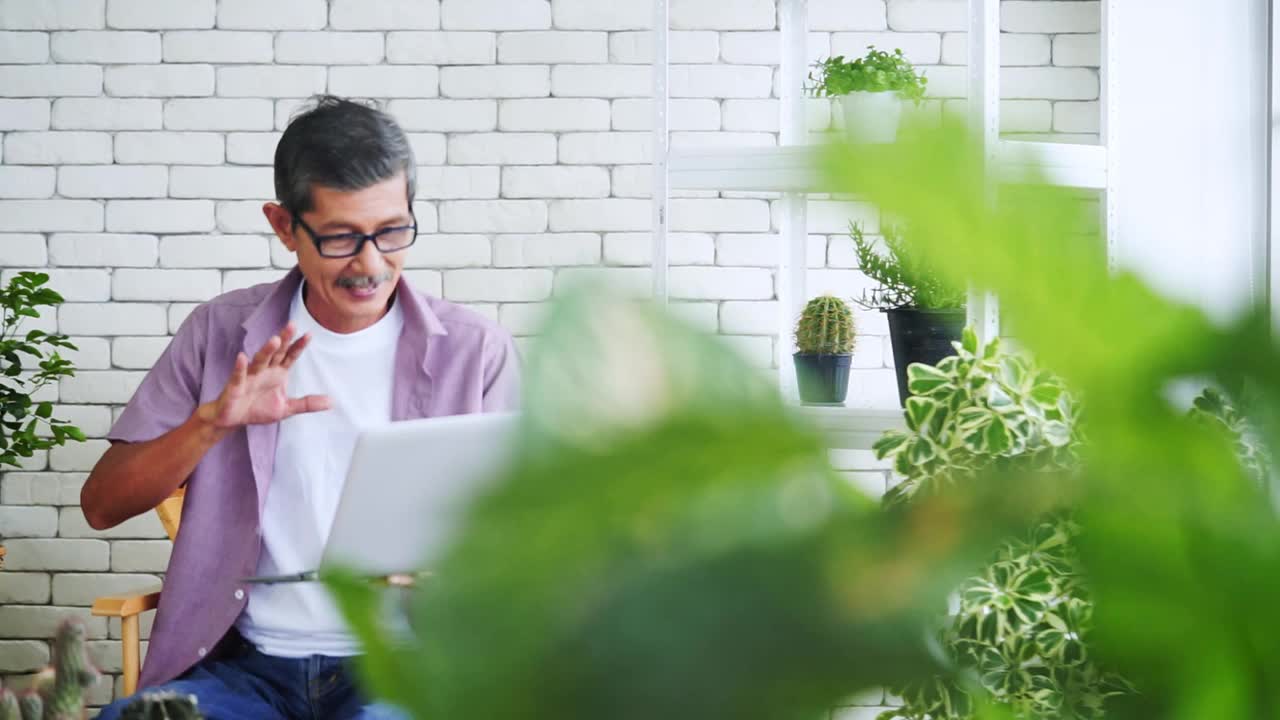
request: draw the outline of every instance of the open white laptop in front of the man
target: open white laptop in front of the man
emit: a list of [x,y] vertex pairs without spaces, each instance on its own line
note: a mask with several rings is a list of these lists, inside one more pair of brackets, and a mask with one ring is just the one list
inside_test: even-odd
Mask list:
[[[511,459],[517,414],[484,413],[388,423],[356,439],[320,566],[370,575],[429,568],[470,502]],[[314,582],[320,568],[246,583]]]

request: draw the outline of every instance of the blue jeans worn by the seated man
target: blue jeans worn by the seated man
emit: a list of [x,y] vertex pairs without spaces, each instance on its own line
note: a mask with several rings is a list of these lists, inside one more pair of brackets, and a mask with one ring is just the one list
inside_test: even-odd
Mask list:
[[[234,634],[236,630],[232,630]],[[274,657],[237,638],[229,652],[202,660],[177,680],[145,692],[193,694],[206,720],[407,720],[408,714],[370,705],[352,680],[349,659],[312,655]],[[116,720],[134,700],[102,708],[99,720]]]

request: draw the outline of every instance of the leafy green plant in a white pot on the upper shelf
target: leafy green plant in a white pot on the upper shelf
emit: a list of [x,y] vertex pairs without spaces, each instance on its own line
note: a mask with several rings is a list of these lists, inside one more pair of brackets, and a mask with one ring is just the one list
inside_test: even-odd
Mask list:
[[902,101],[916,105],[928,78],[902,55],[867,46],[867,55],[846,60],[836,55],[814,63],[809,90],[818,97],[838,97],[845,129],[859,142],[893,142],[902,117]]

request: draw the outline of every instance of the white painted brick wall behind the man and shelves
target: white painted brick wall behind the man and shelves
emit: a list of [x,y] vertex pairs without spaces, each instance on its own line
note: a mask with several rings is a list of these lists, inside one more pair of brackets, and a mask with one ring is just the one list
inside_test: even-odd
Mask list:
[[[934,97],[960,99],[964,8],[809,0],[806,56],[902,47]],[[1004,10],[1005,132],[1094,137],[1097,1]],[[293,264],[261,205],[302,101],[329,91],[384,102],[419,163],[422,229],[406,275],[526,342],[576,282],[649,292],[650,23],[646,0],[0,0],[0,268],[46,268],[68,297],[40,327],[76,338],[81,370],[47,396],[92,438],[0,477],[0,676],[47,660],[55,618],[164,571],[170,546],[154,515],[92,532],[79,488],[114,413],[196,304]],[[672,145],[774,145],[776,4],[673,0],[671,23]],[[838,123],[827,101],[806,114],[814,132]],[[768,197],[714,192],[671,206],[672,309],[760,366],[785,352],[771,337],[778,213]],[[878,232],[873,208],[812,201],[814,288],[867,286],[850,218]],[[883,316],[858,318],[854,402],[892,405]],[[883,491],[874,461],[840,468]],[[91,629],[95,656],[118,673],[118,625]],[[111,687],[95,688],[95,703]]]

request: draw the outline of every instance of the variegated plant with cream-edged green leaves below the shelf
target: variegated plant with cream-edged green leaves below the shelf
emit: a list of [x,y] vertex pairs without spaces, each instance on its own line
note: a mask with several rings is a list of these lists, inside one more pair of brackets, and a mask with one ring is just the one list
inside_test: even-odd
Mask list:
[[[876,443],[877,456],[892,457],[901,475],[886,502],[1001,466],[1070,473],[1078,406],[1062,383],[1001,350],[998,340],[979,347],[972,329],[956,352],[936,368],[908,369],[908,432]],[[1069,516],[1046,518],[965,580],[938,632],[956,671],[891,688],[904,705],[884,717],[972,717],[979,696],[1015,717],[1101,717],[1107,697],[1128,692],[1088,651],[1093,603],[1076,533]]]

